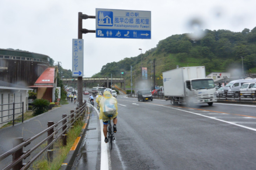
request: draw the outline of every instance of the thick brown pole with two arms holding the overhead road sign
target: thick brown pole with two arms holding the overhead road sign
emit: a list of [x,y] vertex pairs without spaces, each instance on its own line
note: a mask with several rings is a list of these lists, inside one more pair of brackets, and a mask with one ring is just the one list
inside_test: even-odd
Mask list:
[[[95,19],[95,16],[88,16],[86,14],[78,13],[78,39],[83,39],[83,34],[86,33],[96,33],[95,30],[83,29],[83,19],[86,20],[88,18]],[[83,77],[78,77],[78,103],[79,106],[82,106],[83,103]]]

